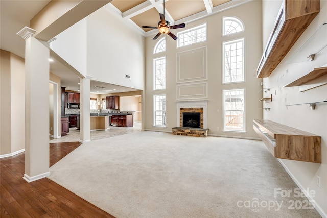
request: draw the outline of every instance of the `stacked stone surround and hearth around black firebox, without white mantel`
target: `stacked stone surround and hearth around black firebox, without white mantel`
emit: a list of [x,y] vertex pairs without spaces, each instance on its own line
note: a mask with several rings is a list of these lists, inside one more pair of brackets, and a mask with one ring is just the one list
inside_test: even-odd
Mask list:
[[[190,128],[183,126],[183,113],[200,113],[201,128]],[[209,129],[203,129],[203,108],[180,108],[179,126],[172,128],[173,135],[186,135],[195,137],[207,137]]]

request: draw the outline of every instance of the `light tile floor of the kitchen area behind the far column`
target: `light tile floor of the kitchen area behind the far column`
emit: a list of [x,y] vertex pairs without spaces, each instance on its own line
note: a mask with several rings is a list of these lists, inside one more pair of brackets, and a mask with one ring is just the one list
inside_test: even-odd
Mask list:
[[[141,122],[135,122],[133,127],[112,127],[107,131],[91,131],[91,140],[109,138],[117,135],[124,135],[132,132],[141,131]],[[75,127],[69,128],[69,133],[61,138],[50,137],[50,143],[74,142],[80,140],[80,131]]]

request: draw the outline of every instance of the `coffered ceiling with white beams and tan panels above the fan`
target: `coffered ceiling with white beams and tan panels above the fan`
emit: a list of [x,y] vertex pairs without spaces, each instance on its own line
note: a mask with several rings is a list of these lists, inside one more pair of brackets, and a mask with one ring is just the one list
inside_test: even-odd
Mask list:
[[[170,25],[188,23],[231,7],[244,4],[244,0],[112,0],[106,7],[119,13],[122,19],[130,20],[145,36],[157,30],[142,28],[154,26],[160,21],[159,13],[165,13]],[[186,26],[187,27],[187,26]]]

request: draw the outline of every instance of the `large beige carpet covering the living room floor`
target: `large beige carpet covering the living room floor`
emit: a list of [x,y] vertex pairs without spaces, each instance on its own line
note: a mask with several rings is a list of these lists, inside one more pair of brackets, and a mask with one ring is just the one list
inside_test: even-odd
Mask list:
[[297,186],[256,140],[143,131],[84,143],[50,171],[117,218],[320,217],[275,196]]

